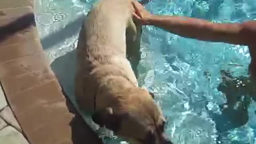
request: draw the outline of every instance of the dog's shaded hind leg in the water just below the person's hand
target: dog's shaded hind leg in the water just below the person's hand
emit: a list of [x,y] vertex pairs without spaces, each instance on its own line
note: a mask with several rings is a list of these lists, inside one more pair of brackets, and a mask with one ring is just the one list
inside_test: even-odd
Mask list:
[[136,25],[132,19],[129,20],[126,28],[126,56],[132,65],[132,70],[136,78],[138,78],[138,64],[140,61],[140,40],[142,34],[142,27]]

